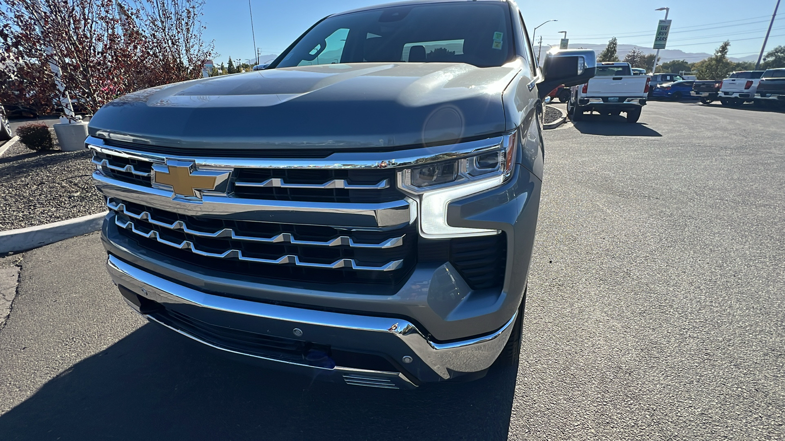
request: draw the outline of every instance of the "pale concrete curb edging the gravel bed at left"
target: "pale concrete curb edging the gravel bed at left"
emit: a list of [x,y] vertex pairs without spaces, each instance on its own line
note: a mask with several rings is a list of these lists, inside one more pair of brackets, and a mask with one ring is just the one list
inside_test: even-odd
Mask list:
[[104,211],[104,213],[38,225],[38,227],[0,231],[0,254],[32,250],[63,239],[98,231],[107,213],[108,211]]

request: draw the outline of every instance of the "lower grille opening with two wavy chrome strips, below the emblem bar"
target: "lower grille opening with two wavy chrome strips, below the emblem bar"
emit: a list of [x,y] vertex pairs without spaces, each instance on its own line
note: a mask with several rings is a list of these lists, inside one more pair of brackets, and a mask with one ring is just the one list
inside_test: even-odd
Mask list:
[[392,231],[184,216],[110,198],[113,223],[140,246],[213,270],[272,279],[394,285],[416,257],[414,225]]

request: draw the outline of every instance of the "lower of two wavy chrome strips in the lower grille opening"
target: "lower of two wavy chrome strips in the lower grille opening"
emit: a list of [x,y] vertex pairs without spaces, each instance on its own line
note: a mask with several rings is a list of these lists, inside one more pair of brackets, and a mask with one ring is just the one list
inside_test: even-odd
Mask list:
[[115,224],[120,228],[125,228],[127,230],[133,231],[133,233],[137,235],[141,235],[148,239],[155,239],[156,241],[164,245],[173,246],[174,248],[179,248],[180,250],[190,250],[192,253],[199,254],[200,256],[205,256],[205,257],[217,257],[221,259],[235,258],[238,259],[239,261],[257,262],[262,264],[295,264],[297,266],[310,267],[310,268],[328,268],[328,269],[352,268],[353,270],[357,270],[357,271],[394,271],[403,265],[403,260],[388,262],[378,267],[371,267],[371,266],[359,265],[354,261],[354,259],[338,259],[337,261],[334,261],[331,264],[317,264],[312,262],[303,262],[300,260],[300,257],[294,256],[292,254],[287,254],[277,259],[261,259],[259,257],[243,256],[242,250],[226,250],[223,253],[210,253],[207,251],[197,249],[194,246],[193,242],[188,240],[184,240],[179,243],[171,242],[169,240],[162,239],[161,236],[158,234],[158,231],[155,230],[150,230],[148,232],[141,231],[136,227],[136,225],[133,224],[132,221],[123,221],[118,216],[115,216]]

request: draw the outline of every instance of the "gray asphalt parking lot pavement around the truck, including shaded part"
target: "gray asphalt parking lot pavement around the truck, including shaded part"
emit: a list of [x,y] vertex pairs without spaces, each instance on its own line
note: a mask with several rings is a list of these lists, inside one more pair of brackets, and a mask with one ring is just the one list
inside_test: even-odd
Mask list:
[[546,132],[521,363],[466,384],[217,358],[122,304],[95,234],[5,257],[0,439],[785,439],[783,127],[654,102]]

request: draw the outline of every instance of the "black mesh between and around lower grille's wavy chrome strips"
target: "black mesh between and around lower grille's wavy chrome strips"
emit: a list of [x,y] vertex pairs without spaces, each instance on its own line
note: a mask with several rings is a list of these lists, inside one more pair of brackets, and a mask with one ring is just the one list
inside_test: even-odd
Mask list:
[[[241,250],[247,257],[263,259],[276,259],[282,255],[291,254],[301,258],[302,261],[312,263],[331,264],[338,259],[354,259],[358,264],[371,267],[382,266],[390,261],[403,260],[401,268],[387,271],[363,271],[352,268],[306,268],[294,264],[266,264],[260,262],[239,261],[235,258],[217,258],[200,256],[190,250],[180,250],[137,235],[131,231],[119,228],[119,232],[133,239],[140,246],[165,254],[179,261],[185,261],[203,268],[230,272],[235,274],[264,277],[268,279],[285,279],[297,282],[320,283],[372,283],[376,285],[394,286],[411,271],[416,261],[417,231],[414,225],[393,231],[339,231],[336,228],[274,224],[252,221],[228,221],[210,219],[206,217],[191,217],[183,214],[171,213],[148,206],[141,206],[132,202],[123,202],[128,210],[134,213],[147,211],[157,221],[175,222],[183,221],[190,228],[199,228],[203,231],[218,231],[223,228],[232,228],[242,235],[271,237],[280,233],[290,233],[300,240],[327,242],[341,235],[350,235],[356,242],[378,243],[385,239],[403,235],[403,243],[387,249],[352,248],[351,246],[307,246],[295,245],[289,242],[248,242],[231,238],[205,238],[185,233],[180,230],[162,228],[148,221],[133,219],[133,223],[142,231],[156,231],[162,239],[170,242],[193,242],[199,250],[210,253],[222,253],[225,250]],[[386,293],[386,292],[385,292]]]

